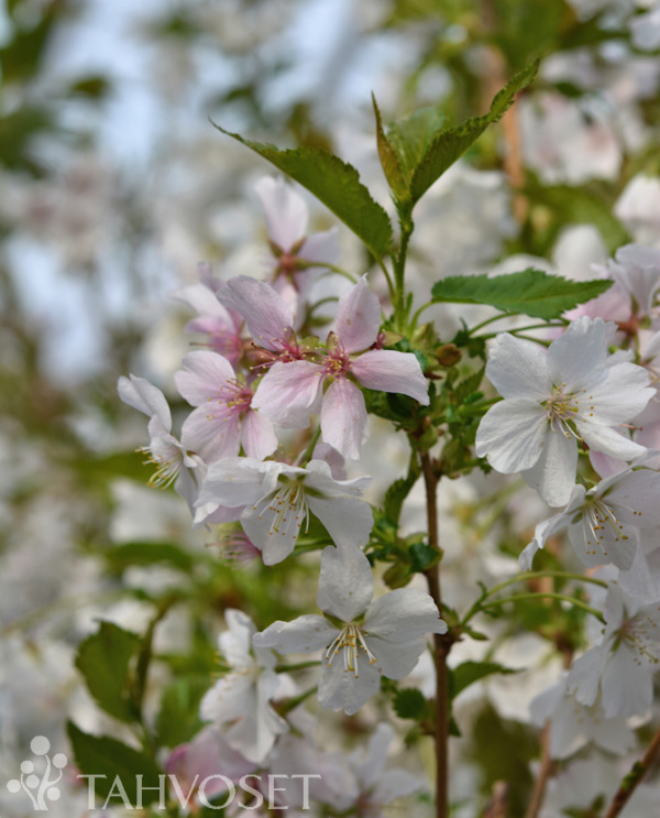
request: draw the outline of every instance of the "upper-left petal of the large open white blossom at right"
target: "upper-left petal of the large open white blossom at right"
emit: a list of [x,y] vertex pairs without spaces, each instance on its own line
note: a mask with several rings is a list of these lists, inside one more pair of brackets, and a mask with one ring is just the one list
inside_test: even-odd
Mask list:
[[488,353],[486,377],[503,397],[544,400],[550,388],[547,353],[538,343],[498,335]]

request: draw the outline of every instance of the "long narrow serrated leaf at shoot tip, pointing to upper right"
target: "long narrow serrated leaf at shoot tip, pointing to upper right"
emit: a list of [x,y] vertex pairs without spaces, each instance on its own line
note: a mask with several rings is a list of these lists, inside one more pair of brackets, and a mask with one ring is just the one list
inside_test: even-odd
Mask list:
[[436,134],[416,166],[410,179],[410,196],[418,201],[428,188],[475,142],[490,124],[497,122],[514,101],[516,94],[527,87],[539,68],[538,61],[518,72],[495,95],[490,111],[483,117],[469,119],[455,128]]

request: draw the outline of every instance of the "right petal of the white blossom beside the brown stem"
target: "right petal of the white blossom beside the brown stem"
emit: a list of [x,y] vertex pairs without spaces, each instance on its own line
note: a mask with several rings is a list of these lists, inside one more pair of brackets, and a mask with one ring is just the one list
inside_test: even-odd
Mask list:
[[428,593],[417,588],[397,588],[369,607],[364,631],[392,642],[407,642],[425,633],[446,633],[447,624]]

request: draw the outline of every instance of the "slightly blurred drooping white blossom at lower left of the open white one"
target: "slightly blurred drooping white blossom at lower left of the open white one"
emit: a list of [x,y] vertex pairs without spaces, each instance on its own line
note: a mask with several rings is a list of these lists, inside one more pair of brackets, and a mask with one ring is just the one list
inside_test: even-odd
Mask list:
[[231,667],[206,692],[200,705],[205,721],[223,726],[230,746],[252,762],[262,762],[277,735],[287,732],[287,722],[271,701],[295,694],[293,681],[276,674],[272,651],[252,645],[255,632],[250,617],[242,611],[224,612],[228,630],[220,634],[220,653]]

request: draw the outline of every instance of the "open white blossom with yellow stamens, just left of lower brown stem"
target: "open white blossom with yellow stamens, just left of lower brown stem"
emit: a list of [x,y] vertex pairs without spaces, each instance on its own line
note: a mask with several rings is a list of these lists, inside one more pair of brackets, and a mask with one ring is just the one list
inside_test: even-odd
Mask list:
[[403,679],[413,670],[426,633],[447,631],[428,593],[397,588],[376,600],[373,593],[372,569],[359,548],[324,548],[317,604],[326,617],[274,622],[253,642],[282,653],[322,648],[320,704],[355,713],[377,692],[381,676]]

